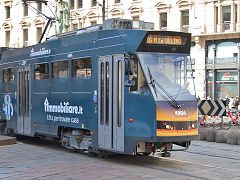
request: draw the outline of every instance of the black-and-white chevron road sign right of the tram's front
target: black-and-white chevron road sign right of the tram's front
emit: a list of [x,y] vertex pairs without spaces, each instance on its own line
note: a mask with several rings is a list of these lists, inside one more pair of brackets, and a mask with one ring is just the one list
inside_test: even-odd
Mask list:
[[226,116],[226,101],[199,100],[198,114],[208,116]]

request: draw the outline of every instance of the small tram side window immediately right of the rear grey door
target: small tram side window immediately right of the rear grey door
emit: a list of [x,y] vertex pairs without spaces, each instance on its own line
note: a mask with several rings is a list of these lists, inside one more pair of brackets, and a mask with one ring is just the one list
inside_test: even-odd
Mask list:
[[34,79],[48,79],[49,78],[49,64],[35,64],[34,65]]

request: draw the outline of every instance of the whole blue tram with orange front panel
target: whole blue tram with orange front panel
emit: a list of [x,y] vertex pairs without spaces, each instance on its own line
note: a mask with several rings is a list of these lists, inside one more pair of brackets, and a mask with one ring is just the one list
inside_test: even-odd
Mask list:
[[34,46],[2,48],[5,130],[58,137],[63,147],[101,156],[167,156],[173,144],[188,147],[198,137],[187,69],[191,35],[148,27],[107,20]]

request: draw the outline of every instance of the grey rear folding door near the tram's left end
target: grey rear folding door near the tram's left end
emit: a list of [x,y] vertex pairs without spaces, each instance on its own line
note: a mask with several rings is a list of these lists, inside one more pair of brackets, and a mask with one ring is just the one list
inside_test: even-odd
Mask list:
[[17,132],[19,134],[31,133],[31,92],[30,67],[17,69]]

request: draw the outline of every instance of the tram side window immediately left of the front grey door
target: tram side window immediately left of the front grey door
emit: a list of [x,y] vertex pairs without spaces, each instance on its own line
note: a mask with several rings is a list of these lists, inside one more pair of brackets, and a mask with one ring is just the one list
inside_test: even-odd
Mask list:
[[92,75],[92,59],[81,58],[72,60],[72,77],[89,78]]

